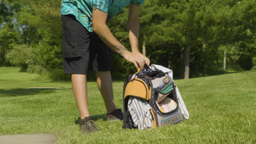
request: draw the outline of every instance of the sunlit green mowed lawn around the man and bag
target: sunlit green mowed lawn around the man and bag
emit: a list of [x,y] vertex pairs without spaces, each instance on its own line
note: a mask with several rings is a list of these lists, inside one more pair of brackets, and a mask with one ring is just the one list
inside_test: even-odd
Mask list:
[[[50,133],[57,143],[256,143],[256,71],[176,80],[190,119],[151,130],[106,122],[100,92],[89,82],[89,110],[100,131],[86,136],[70,82],[38,81],[38,75],[18,71],[0,68],[0,135]],[[123,107],[123,82],[113,87]]]

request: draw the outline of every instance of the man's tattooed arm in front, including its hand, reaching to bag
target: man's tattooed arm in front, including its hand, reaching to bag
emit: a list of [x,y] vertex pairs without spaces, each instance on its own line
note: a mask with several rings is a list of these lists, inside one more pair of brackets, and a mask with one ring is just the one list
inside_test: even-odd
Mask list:
[[125,49],[125,47],[115,39],[112,32],[110,32],[108,26],[106,25],[107,13],[96,9],[92,10],[92,28],[94,32],[115,52],[122,55],[127,61],[133,63],[136,68],[143,69],[145,61],[143,55],[138,53],[132,53]]

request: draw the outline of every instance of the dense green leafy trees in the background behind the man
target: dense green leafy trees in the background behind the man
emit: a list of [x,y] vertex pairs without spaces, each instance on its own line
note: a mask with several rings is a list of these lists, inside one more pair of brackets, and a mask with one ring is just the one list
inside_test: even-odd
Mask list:
[[[3,0],[0,8],[0,65],[14,64],[5,55],[16,45],[26,45],[31,57],[23,70],[59,71],[61,75],[60,1]],[[139,47],[145,43],[151,63],[169,67],[179,77],[188,64],[190,77],[223,73],[223,51],[228,69],[251,69],[256,57],[255,8],[253,0],[147,0],[141,6]],[[130,50],[127,16],[126,7],[108,26]],[[112,52],[113,79],[124,79],[135,71],[131,63]]]

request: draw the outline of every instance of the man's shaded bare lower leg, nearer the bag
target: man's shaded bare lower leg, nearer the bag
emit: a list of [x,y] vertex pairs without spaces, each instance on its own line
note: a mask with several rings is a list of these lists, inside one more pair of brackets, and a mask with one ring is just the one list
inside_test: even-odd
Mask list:
[[103,97],[107,112],[117,109],[114,102],[113,87],[110,71],[96,71],[98,89]]

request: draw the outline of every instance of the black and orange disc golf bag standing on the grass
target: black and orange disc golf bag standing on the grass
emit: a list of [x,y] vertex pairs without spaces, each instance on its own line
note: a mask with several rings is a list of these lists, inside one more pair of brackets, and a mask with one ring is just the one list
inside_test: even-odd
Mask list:
[[123,128],[149,129],[182,122],[183,116],[188,119],[189,113],[179,92],[181,99],[177,97],[172,73],[157,66],[160,65],[145,65],[145,69],[125,80]]

